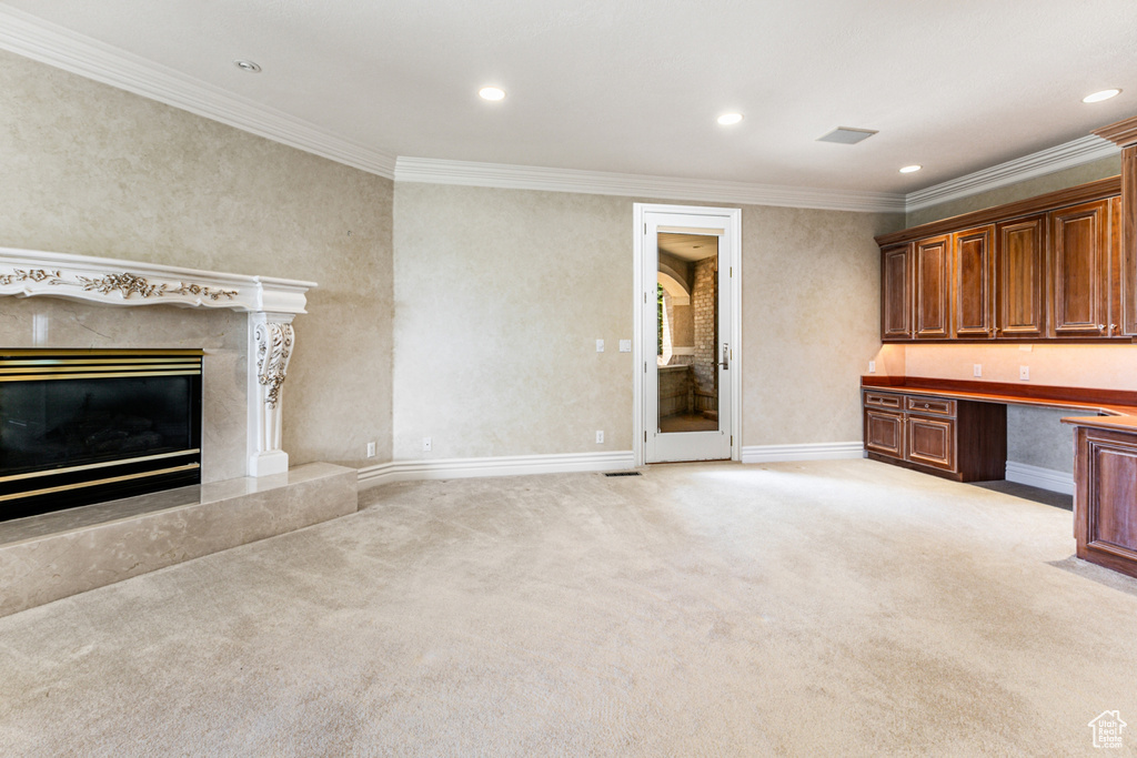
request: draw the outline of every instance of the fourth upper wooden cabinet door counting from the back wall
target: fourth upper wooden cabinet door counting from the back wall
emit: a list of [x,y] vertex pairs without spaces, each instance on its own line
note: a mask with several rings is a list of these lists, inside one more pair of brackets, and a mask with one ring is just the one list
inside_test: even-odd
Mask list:
[[996,335],[1039,338],[1046,331],[1046,216],[996,226]]

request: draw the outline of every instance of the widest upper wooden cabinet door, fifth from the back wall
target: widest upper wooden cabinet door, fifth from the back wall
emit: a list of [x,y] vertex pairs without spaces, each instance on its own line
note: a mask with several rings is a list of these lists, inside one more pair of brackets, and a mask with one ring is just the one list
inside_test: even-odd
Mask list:
[[1109,333],[1109,202],[1055,210],[1051,217],[1051,334]]

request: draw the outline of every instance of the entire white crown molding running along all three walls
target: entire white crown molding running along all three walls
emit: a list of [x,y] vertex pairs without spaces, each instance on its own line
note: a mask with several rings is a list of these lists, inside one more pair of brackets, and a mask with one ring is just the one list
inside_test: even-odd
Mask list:
[[400,182],[861,213],[911,213],[1120,152],[1120,148],[1106,139],[1085,136],[906,195],[432,158],[396,158],[345,140],[315,124],[249,98],[234,95],[160,64],[2,5],[0,49]]

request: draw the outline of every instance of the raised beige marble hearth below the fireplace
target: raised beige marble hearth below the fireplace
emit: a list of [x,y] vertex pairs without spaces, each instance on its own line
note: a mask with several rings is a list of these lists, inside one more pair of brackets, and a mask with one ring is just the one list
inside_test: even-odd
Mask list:
[[0,616],[355,513],[357,478],[308,464],[0,523]]

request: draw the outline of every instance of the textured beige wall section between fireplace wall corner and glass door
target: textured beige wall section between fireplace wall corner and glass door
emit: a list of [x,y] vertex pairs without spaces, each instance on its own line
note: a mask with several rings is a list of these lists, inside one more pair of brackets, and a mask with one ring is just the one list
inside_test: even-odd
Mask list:
[[396,459],[630,450],[631,227],[630,200],[398,183]]

